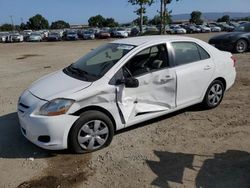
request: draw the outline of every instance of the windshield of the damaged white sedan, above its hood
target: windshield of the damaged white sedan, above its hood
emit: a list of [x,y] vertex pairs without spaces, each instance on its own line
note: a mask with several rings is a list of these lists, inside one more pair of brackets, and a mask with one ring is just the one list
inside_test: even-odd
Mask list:
[[134,47],[127,44],[105,44],[80,58],[70,65],[67,70],[75,72],[75,77],[79,79],[86,81],[98,80]]

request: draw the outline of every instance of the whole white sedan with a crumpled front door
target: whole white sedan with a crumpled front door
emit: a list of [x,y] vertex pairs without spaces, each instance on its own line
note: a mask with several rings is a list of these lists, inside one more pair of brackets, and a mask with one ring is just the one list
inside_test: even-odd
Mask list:
[[25,90],[21,131],[46,149],[101,149],[125,127],[197,103],[218,106],[234,84],[234,65],[231,53],[188,37],[113,41]]

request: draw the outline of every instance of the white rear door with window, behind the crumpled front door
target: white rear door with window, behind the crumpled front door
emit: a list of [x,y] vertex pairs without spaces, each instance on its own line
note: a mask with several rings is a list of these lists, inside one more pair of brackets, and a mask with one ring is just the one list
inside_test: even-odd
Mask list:
[[177,76],[177,106],[202,100],[214,72],[212,58],[194,42],[172,42],[171,46]]

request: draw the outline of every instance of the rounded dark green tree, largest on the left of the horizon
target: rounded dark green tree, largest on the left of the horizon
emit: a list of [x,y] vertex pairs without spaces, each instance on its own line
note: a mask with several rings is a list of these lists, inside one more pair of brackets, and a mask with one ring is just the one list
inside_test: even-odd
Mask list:
[[33,30],[48,29],[49,22],[42,15],[37,14],[29,18],[29,21],[27,22],[27,27]]

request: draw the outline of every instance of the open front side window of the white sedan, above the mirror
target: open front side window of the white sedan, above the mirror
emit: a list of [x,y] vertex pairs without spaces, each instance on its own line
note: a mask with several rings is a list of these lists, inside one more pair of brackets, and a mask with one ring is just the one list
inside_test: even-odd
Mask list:
[[[146,48],[136,54],[124,66],[124,76],[136,77],[168,66],[166,44]],[[128,74],[129,72],[129,74]]]

